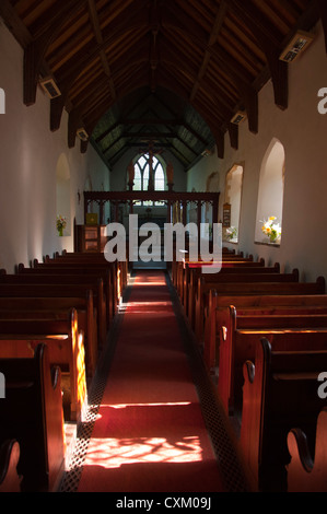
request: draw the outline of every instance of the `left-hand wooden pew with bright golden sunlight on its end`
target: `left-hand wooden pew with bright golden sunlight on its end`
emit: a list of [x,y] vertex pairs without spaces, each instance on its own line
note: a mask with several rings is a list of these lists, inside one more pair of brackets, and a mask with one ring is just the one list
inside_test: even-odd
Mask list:
[[[2,316],[3,317],[3,316]],[[78,314],[69,317],[48,314],[46,319],[0,319],[0,358],[31,358],[39,342],[48,347],[51,365],[61,369],[65,418],[80,422],[87,399],[84,336]]]

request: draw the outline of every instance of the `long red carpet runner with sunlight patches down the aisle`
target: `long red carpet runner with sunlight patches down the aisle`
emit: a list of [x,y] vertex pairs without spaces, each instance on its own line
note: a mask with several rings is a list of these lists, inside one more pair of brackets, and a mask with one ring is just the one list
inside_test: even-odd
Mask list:
[[79,492],[221,492],[222,480],[161,271],[139,271]]

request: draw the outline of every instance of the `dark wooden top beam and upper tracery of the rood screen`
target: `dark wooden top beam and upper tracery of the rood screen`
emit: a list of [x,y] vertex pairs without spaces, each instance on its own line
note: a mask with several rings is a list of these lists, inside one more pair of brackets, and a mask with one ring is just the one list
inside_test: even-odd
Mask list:
[[218,223],[219,192],[183,192],[183,191],[84,191],[84,219],[92,202],[96,202],[100,209],[100,223],[104,220],[104,205],[109,201],[114,207],[114,219],[118,221],[118,207],[127,203],[132,214],[133,205],[138,201],[164,202],[167,207],[167,223],[172,222],[172,208],[176,202],[183,206],[183,224],[186,224],[186,207],[188,205],[197,205],[197,224],[198,229],[201,223],[201,208],[209,203],[212,206],[212,224]]

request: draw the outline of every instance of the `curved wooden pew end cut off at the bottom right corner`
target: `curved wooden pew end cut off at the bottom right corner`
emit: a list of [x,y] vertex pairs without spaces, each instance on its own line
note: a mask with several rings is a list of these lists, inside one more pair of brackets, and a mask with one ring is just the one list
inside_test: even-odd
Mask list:
[[288,448],[291,456],[287,465],[288,492],[327,492],[327,407],[317,419],[314,454],[300,427],[289,432]]

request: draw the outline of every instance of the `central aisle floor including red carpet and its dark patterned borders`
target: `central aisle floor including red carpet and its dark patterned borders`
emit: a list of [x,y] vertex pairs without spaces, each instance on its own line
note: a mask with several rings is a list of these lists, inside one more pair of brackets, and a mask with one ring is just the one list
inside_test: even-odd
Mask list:
[[166,271],[133,271],[91,395],[60,491],[247,490]]

